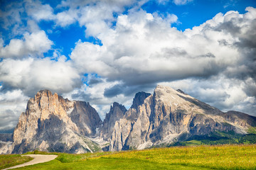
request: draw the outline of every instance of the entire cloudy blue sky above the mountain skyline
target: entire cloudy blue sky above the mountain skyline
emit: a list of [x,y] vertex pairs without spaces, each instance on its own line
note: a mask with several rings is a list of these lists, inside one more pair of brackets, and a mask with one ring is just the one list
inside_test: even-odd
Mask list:
[[102,120],[157,84],[256,116],[255,0],[0,0],[0,132],[41,89]]

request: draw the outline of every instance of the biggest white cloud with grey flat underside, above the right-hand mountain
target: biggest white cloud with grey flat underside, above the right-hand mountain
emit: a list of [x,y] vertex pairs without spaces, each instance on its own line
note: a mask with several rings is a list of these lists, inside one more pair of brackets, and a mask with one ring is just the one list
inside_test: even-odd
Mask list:
[[[210,77],[240,60],[233,45],[236,37],[210,28],[210,24],[219,26],[218,17],[225,18],[216,16],[202,26],[181,32],[171,27],[169,18],[146,11],[129,13],[119,16],[107,35],[98,36],[102,46],[79,41],[70,57],[83,72],[126,84]],[[219,40],[232,46],[220,45]]]

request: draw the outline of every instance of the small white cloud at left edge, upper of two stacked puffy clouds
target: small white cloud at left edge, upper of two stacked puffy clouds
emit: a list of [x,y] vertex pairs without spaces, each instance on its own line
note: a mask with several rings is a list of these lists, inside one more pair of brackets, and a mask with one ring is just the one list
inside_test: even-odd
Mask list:
[[53,42],[48,39],[43,30],[35,33],[24,33],[22,39],[12,39],[9,45],[0,44],[1,58],[21,58],[28,56],[40,56],[50,50]]

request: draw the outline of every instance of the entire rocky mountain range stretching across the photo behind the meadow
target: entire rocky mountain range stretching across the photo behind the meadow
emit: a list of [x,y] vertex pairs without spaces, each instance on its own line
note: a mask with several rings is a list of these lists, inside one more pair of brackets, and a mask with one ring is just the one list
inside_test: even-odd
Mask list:
[[158,85],[153,94],[137,93],[128,111],[114,102],[103,122],[90,103],[70,101],[43,90],[29,99],[13,135],[0,135],[0,154],[35,149],[68,153],[121,151],[198,139],[230,141],[255,133],[255,127],[256,117],[252,115],[223,113],[169,86]]

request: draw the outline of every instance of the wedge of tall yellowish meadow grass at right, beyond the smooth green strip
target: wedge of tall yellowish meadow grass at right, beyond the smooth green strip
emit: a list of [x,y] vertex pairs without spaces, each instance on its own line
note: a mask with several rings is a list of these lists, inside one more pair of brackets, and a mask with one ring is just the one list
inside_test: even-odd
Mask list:
[[170,147],[139,152],[120,152],[105,157],[147,159],[149,162],[214,169],[256,169],[255,145]]

